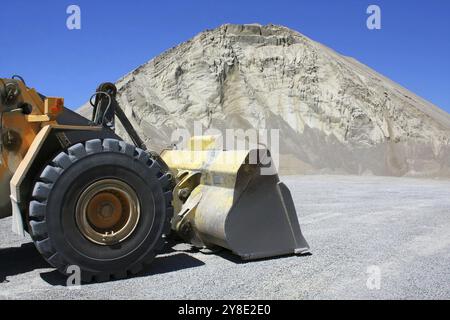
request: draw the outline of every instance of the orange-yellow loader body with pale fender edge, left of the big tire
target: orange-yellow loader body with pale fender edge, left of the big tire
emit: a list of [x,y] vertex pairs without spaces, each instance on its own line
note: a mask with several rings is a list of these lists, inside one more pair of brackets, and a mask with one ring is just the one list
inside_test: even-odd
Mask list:
[[[98,132],[102,128],[82,125],[83,122],[87,124],[87,120],[79,125],[59,123],[60,115],[74,114],[63,107],[63,98],[43,97],[21,80],[0,79],[0,89],[9,85],[18,92],[10,104],[4,105],[0,101],[0,218],[12,215],[13,231],[23,235],[26,217],[20,208],[21,202],[25,204],[21,196],[24,189],[29,188],[27,178],[42,165],[42,160],[48,157],[46,153],[60,147],[57,140],[49,141],[52,133],[61,132],[61,137],[65,137],[70,131]],[[26,114],[25,106],[29,107]],[[21,189],[22,184],[25,187]]]

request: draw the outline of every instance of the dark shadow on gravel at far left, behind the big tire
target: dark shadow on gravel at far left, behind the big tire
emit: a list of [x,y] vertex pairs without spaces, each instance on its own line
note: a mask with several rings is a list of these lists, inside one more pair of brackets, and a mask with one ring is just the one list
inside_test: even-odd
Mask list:
[[44,268],[49,268],[49,265],[33,243],[25,243],[17,248],[0,249],[0,283],[7,281],[7,277]]

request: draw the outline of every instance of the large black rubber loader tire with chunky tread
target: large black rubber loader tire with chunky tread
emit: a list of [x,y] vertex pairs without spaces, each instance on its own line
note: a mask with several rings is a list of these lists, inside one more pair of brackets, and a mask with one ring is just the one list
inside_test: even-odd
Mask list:
[[[128,203],[128,198],[120,198],[121,193],[115,195],[126,200],[118,205],[122,210],[120,221],[128,225],[126,221],[131,221],[132,213],[138,218],[122,241],[104,244],[86,236],[86,230],[94,230],[97,225],[80,222],[91,220],[79,218],[84,217],[79,202],[90,186],[112,179],[127,185],[127,190],[136,197],[130,199],[138,199],[136,204],[132,200]],[[33,188],[29,219],[36,248],[63,274],[69,266],[78,266],[83,282],[121,279],[140,272],[162,249],[170,231],[173,215],[170,180],[170,174],[146,152],[123,141],[97,139],[68,148],[44,168]],[[131,210],[132,207],[139,211]],[[103,209],[89,212],[103,214]],[[116,214],[115,209],[108,210],[105,212]]]

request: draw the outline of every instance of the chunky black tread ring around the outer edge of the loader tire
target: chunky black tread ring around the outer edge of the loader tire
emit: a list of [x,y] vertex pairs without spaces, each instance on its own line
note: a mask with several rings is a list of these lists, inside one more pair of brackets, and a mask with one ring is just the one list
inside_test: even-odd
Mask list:
[[171,203],[172,191],[170,189],[171,175],[170,173],[162,172],[160,166],[156,161],[153,161],[150,158],[147,152],[124,141],[119,141],[116,139],[93,139],[84,143],[75,144],[69,147],[66,151],[59,153],[53,159],[51,164],[44,168],[42,174],[34,185],[32,200],[29,204],[31,237],[37,250],[44,256],[48,263],[62,273],[64,273],[68,267],[68,262],[58,252],[56,252],[52,245],[51,239],[48,237],[46,224],[46,203],[53,185],[63,174],[63,172],[77,161],[86,156],[101,152],[122,153],[147,165],[152,174],[154,174],[157,178],[157,181],[159,181],[163,190],[163,195],[166,202],[166,219],[164,221],[161,237],[155,244],[154,249],[149,250],[142,261],[130,266],[127,270],[115,270],[111,272],[91,272],[88,270],[82,270],[83,282],[91,282],[92,280],[104,282],[110,279],[123,279],[128,274],[135,275],[142,271],[145,266],[149,265],[153,261],[156,253],[164,247],[165,238],[170,232],[170,220],[173,216],[173,207]]

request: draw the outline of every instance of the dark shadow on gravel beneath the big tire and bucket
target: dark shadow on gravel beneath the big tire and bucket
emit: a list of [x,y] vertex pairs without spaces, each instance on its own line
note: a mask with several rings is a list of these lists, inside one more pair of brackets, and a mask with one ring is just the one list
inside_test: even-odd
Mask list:
[[[200,267],[203,266],[204,264],[205,263],[203,263],[202,261],[195,259],[194,257],[191,257],[190,255],[185,253],[175,253],[169,256],[157,256],[155,260],[152,262],[152,264],[147,268],[147,270],[144,270],[141,273],[135,276],[131,276],[127,279],[149,277],[157,274],[164,274],[183,269]],[[57,270],[41,273],[41,278],[53,286],[63,286],[63,287],[66,286],[67,278],[64,277]],[[108,282],[116,282],[121,280],[122,279],[118,280],[112,279]],[[85,285],[95,285],[95,284],[96,283]]]

